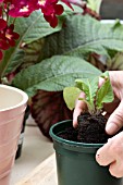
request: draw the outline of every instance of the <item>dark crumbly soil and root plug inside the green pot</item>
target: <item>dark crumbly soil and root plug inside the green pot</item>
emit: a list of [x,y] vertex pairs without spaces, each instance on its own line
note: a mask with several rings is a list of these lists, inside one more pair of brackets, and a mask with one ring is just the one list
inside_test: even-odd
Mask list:
[[107,119],[102,115],[90,115],[89,113],[81,114],[77,119],[76,128],[69,127],[59,136],[73,141],[88,144],[104,144],[110,137],[106,131]]

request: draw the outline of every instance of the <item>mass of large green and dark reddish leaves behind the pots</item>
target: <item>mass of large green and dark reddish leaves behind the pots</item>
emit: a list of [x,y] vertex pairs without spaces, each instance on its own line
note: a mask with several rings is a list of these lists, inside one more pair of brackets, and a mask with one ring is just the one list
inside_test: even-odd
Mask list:
[[123,70],[123,26],[116,15],[113,23],[107,22],[104,5],[104,1],[88,0],[93,16],[83,14],[77,5],[74,11],[64,5],[56,28],[46,23],[40,11],[16,20],[21,37],[14,49],[4,52],[3,60],[10,64],[0,64],[0,75],[2,83],[28,94],[30,114],[47,137],[52,124],[72,119],[62,96],[64,87],[74,85],[78,77]]

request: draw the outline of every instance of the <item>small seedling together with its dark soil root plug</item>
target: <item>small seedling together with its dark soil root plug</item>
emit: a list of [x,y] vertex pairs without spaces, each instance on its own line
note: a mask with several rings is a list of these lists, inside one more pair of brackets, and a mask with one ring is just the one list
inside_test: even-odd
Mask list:
[[[99,77],[104,79],[101,86],[98,85]],[[104,144],[110,136],[104,131],[107,119],[102,115],[103,103],[114,99],[109,73],[94,78],[76,79],[75,83],[75,87],[64,88],[64,100],[69,109],[73,110],[78,98],[87,104],[88,110],[78,115],[77,128],[66,130],[62,137],[88,144]],[[84,98],[79,98],[81,91],[85,94]]]

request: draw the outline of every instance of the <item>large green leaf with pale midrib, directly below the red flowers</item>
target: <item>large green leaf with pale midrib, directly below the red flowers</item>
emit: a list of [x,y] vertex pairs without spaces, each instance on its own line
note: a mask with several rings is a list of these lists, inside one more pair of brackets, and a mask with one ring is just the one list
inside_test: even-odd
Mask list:
[[[44,39],[48,35],[52,35],[53,33],[61,30],[65,16],[74,13],[64,3],[62,3],[62,5],[64,7],[64,13],[63,15],[59,16],[59,25],[56,28],[52,28],[49,23],[46,22],[40,10],[33,12],[29,17],[16,18],[15,32],[17,32],[21,37],[16,41],[16,46],[14,48],[11,48],[10,50],[4,52],[2,64],[8,63],[8,67],[4,69],[5,74],[15,71],[22,63],[26,63],[28,62],[28,60],[34,60],[34,64],[36,63],[35,58],[37,58],[38,60],[37,55],[39,53],[35,52],[34,55],[30,52],[26,53],[26,51],[21,49],[20,46],[22,44],[26,46],[28,44],[30,45],[32,42],[37,42],[37,40]],[[82,9],[77,8],[76,5],[74,5],[74,10],[76,12],[82,12]],[[12,21],[13,18],[10,20],[11,23]],[[41,50],[41,46],[38,48],[38,50],[39,49]]]

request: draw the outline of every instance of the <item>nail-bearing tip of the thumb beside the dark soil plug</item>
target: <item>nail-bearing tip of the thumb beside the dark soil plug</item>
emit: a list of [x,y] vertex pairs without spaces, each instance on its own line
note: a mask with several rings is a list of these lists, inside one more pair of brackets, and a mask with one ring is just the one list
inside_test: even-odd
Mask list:
[[109,134],[109,135],[113,135],[115,134],[116,132],[119,131],[119,127],[116,124],[114,123],[109,123],[106,125],[106,132]]

